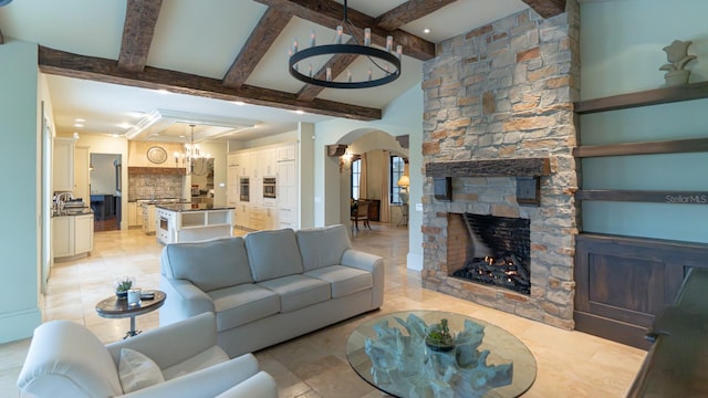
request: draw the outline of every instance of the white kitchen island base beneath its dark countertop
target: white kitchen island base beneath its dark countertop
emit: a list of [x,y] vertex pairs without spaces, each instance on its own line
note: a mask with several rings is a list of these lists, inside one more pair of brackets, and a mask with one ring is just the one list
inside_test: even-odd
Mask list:
[[163,244],[231,237],[233,232],[232,207],[192,209],[190,203],[157,205],[156,218],[157,241]]

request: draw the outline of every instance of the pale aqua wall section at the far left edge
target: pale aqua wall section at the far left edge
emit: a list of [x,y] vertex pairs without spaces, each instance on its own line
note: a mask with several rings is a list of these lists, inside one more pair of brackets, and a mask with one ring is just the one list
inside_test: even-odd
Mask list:
[[38,46],[0,45],[0,343],[28,337],[40,310],[41,139]]

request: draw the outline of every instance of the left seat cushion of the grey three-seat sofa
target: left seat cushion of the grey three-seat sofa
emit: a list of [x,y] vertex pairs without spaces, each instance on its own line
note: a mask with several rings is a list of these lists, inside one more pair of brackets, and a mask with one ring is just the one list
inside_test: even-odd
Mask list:
[[254,284],[220,289],[207,294],[214,301],[218,332],[278,314],[280,311],[278,294]]

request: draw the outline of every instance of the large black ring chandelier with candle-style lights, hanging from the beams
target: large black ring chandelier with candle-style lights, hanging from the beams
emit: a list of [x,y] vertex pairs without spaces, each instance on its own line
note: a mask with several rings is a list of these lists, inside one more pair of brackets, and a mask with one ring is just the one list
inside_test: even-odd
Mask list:
[[[342,36],[344,34],[344,27],[346,27],[346,33],[352,36],[353,43],[342,43]],[[392,35],[386,38],[386,50],[379,50],[373,48],[372,44],[372,31],[369,28],[364,29],[363,44],[354,34],[352,29],[353,24],[347,17],[346,0],[344,0],[344,18],[342,24],[336,27],[336,36],[334,44],[315,45],[315,33],[310,31],[310,48],[300,50],[298,48],[298,40],[293,42],[292,49],[289,51],[290,61],[289,69],[290,74],[296,80],[314,84],[322,87],[330,88],[368,88],[377,87],[387,83],[391,83],[400,76],[400,57],[403,54],[403,46],[397,45],[396,52],[393,52],[394,39]],[[332,80],[332,69],[326,67],[324,76],[321,73],[313,75],[312,64],[308,67],[308,74],[300,72],[300,64],[308,59],[315,57],[317,55],[337,55],[337,54],[357,54],[364,55],[373,64],[373,69],[376,73],[372,72],[372,67],[368,70],[368,75],[364,80],[352,80],[352,73],[347,72],[346,81],[337,82]],[[374,76],[383,72],[382,77]],[[336,76],[335,76],[336,77]]]

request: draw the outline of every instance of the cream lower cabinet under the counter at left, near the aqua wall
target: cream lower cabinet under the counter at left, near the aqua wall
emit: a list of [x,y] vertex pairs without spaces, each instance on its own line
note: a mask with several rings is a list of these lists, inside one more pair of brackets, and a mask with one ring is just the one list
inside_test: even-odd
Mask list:
[[87,254],[93,250],[93,213],[52,218],[54,259]]

